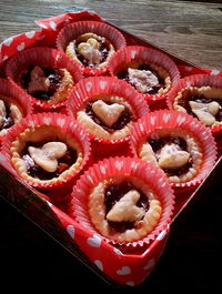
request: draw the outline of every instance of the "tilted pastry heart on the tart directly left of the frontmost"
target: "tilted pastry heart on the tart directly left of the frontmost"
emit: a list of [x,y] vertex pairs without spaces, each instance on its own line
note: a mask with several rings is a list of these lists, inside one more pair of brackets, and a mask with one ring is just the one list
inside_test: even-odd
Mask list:
[[49,142],[41,148],[29,146],[28,151],[36,164],[47,172],[54,172],[58,168],[58,159],[67,152],[67,145],[62,142]]

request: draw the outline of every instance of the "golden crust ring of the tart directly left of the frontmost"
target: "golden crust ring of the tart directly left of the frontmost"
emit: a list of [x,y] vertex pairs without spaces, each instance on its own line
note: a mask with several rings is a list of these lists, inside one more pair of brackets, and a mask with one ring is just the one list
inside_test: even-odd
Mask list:
[[[67,146],[77,151],[78,159],[68,170],[63,171],[58,178],[51,180],[40,180],[32,178],[27,172],[27,164],[22,159],[22,151],[26,148],[27,142],[46,142],[46,141],[61,141]],[[17,136],[11,145],[11,162],[17,172],[24,180],[32,183],[48,183],[53,184],[58,180],[63,181],[69,174],[75,172],[82,163],[83,155],[80,144],[69,133],[62,133],[59,128],[53,125],[41,125],[26,129],[22,133]]]

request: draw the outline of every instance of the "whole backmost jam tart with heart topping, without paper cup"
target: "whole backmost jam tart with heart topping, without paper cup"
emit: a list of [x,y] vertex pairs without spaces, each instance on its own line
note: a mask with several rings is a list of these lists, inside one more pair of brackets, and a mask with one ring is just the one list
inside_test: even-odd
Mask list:
[[69,58],[84,67],[98,69],[104,68],[113,53],[113,45],[104,37],[92,32],[81,34],[65,50]]

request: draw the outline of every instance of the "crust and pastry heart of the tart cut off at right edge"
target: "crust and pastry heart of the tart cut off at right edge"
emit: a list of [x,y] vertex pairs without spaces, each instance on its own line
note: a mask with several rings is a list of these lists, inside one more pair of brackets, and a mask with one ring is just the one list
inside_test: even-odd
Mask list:
[[191,88],[184,88],[181,91],[178,92],[176,97],[173,101],[173,109],[176,111],[188,112],[185,108],[179,104],[180,100],[183,99],[183,97],[189,95],[203,95],[205,98],[209,98],[211,100],[215,100],[214,102],[210,103],[196,103],[193,101],[190,102],[190,107],[192,112],[198,116],[198,119],[205,125],[215,126],[218,124],[221,124],[222,121],[218,121],[215,119],[215,114],[218,113],[219,109],[221,109],[221,105],[216,102],[216,100],[222,101],[222,89],[215,88],[215,87],[191,87]]

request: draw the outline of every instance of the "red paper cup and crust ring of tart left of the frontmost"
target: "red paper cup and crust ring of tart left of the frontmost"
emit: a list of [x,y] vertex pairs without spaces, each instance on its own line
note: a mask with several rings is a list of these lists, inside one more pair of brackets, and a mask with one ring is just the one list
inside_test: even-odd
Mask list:
[[[59,139],[59,141],[72,145],[72,149],[78,151],[78,159],[74,164],[58,178],[51,180],[34,180],[32,176],[27,178],[26,172],[24,175],[22,174],[23,169],[21,164],[19,163],[18,165],[14,161],[12,162],[12,149],[14,151],[14,146],[18,146],[16,144],[18,139],[20,139],[20,150],[17,152],[19,154],[17,154],[18,158],[20,158],[20,154],[26,148],[24,142],[38,143],[48,140],[57,141]],[[78,178],[79,173],[90,160],[91,145],[88,133],[72,118],[56,113],[39,113],[28,115],[10,129],[2,142],[2,153],[24,183],[37,189],[54,190],[67,185],[67,183]]]

